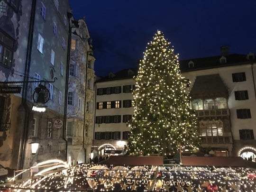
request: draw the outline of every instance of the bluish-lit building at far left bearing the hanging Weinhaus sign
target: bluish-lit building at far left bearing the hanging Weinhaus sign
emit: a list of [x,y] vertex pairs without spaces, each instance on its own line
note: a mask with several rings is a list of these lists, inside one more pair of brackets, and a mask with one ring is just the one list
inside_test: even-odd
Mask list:
[[0,0],[0,9],[0,85],[21,87],[0,92],[0,164],[22,169],[66,159],[68,0]]

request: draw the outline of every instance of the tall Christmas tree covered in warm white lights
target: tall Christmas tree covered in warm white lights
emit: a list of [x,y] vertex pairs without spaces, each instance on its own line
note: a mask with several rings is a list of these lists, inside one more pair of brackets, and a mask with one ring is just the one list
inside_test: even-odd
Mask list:
[[179,150],[196,151],[200,146],[186,81],[179,70],[178,56],[169,45],[157,31],[139,62],[134,115],[128,125],[130,155],[174,155]]

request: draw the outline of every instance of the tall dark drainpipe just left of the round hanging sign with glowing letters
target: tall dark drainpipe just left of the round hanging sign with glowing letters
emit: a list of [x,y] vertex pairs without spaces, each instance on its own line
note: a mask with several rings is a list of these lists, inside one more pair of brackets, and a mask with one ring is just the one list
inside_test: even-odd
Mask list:
[[25,109],[25,118],[24,118],[23,135],[20,142],[21,146],[19,146],[18,169],[23,169],[23,165],[25,161],[26,145],[27,145],[29,111],[30,111],[29,107],[27,106],[27,88],[28,88],[28,75],[29,75],[30,64],[31,64],[31,52],[32,52],[32,46],[33,46],[36,4],[37,4],[37,0],[32,0],[30,23],[29,23],[28,37],[27,37],[27,54],[26,54],[25,69],[24,69],[24,73],[26,75],[24,76],[24,79],[23,79],[24,82],[23,82],[22,97],[21,97],[22,106]]

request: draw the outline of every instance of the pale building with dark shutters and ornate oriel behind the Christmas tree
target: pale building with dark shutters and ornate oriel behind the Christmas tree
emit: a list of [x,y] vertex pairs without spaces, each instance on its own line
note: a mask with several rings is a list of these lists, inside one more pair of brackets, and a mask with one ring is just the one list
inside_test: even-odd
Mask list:
[[[180,61],[180,69],[188,82],[203,151],[215,156],[255,158],[255,55],[229,55],[228,47],[221,47],[221,55]],[[130,103],[136,71],[110,73],[96,82],[93,144],[101,153],[104,148],[127,144],[126,122],[133,114]]]

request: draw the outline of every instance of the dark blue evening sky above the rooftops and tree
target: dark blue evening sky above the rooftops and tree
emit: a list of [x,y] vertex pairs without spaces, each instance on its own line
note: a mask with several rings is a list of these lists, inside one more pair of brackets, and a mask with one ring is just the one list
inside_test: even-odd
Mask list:
[[161,30],[179,59],[256,53],[256,0],[69,0],[75,19],[85,16],[95,72],[136,67]]

